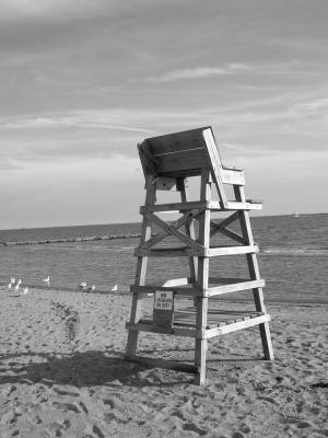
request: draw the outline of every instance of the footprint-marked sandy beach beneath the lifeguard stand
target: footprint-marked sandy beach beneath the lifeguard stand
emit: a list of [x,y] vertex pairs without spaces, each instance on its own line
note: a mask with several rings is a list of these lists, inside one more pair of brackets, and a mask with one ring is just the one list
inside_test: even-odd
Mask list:
[[[209,343],[208,381],[122,360],[129,296],[0,290],[0,437],[327,437],[319,306],[270,306],[258,328]],[[151,306],[149,300],[149,306]],[[142,355],[192,360],[189,338],[142,334]]]

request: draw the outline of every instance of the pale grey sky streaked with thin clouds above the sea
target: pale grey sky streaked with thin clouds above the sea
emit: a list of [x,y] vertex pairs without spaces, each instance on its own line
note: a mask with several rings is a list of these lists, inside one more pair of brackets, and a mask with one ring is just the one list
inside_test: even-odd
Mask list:
[[1,0],[0,229],[140,220],[144,138],[212,126],[261,215],[328,211],[327,0]]

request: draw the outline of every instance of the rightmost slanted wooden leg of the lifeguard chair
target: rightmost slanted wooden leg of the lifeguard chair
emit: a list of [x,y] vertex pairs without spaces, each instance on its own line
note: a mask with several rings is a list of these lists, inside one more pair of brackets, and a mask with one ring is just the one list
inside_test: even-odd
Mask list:
[[[243,203],[246,201],[244,187],[234,185],[234,193],[236,196],[236,200],[243,201]],[[254,239],[253,239],[250,220],[249,220],[249,212],[246,210],[241,210],[239,211],[239,221],[241,221],[242,233],[245,239],[245,244],[254,245]],[[260,274],[259,274],[256,254],[246,254],[246,258],[247,258],[247,265],[248,265],[250,278],[259,280]],[[256,310],[258,312],[266,313],[266,306],[265,306],[262,288],[253,289],[253,296],[254,296]],[[269,323],[265,322],[262,324],[259,324],[259,331],[260,331],[265,358],[268,360],[273,360],[274,356],[273,356],[273,348],[272,348],[272,343],[271,343]]]

